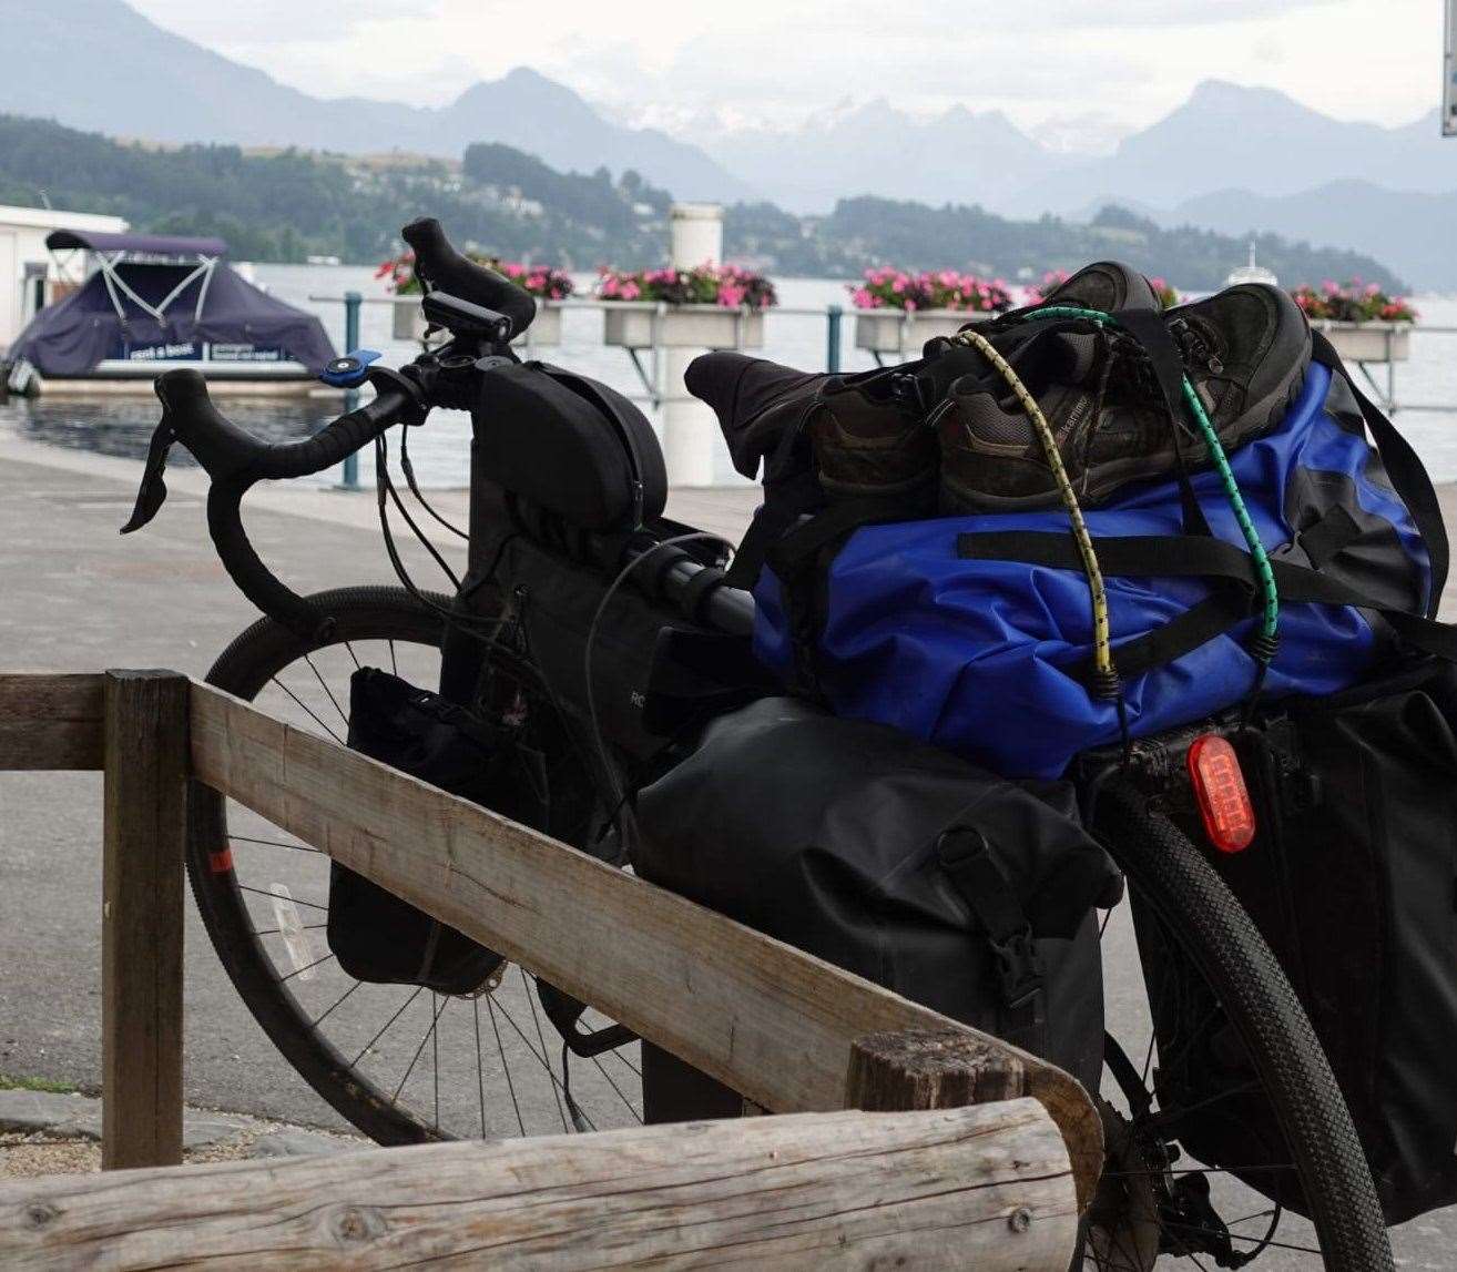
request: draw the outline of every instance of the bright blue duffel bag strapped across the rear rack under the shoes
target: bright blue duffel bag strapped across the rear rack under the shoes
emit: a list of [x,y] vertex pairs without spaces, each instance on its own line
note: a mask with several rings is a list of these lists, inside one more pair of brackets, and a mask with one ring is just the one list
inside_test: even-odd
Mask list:
[[[1281,593],[1268,699],[1339,692],[1397,644],[1457,654],[1453,632],[1426,621],[1447,574],[1431,481],[1319,334],[1298,399],[1230,466]],[[1224,710],[1256,682],[1241,529],[1215,471],[1189,484],[1212,536],[1185,533],[1176,479],[1085,513],[1132,737]],[[1119,704],[1093,692],[1093,612],[1067,513],[858,526],[841,513],[779,538],[755,589],[755,651],[787,686],[1010,777],[1058,777],[1120,739]]]

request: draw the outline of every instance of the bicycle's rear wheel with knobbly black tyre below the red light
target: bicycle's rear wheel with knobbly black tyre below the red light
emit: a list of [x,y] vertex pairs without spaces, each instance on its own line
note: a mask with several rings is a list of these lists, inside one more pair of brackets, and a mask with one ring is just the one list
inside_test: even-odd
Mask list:
[[[1345,1099],[1244,908],[1132,785],[1113,782],[1099,796],[1096,831],[1128,876],[1152,1020],[1141,1071],[1110,1039],[1109,1072],[1126,1110],[1100,1196],[1104,1215],[1138,1214],[1144,1240],[1135,1257],[1126,1227],[1118,1240],[1104,1231],[1090,1237],[1085,1263],[1148,1266],[1157,1215],[1155,1246],[1198,1266],[1260,1257],[1262,1268],[1391,1268]],[[1202,1164],[1189,1166],[1189,1155]],[[1291,1208],[1308,1228],[1279,1227]],[[1094,1206],[1094,1225],[1097,1217]]]

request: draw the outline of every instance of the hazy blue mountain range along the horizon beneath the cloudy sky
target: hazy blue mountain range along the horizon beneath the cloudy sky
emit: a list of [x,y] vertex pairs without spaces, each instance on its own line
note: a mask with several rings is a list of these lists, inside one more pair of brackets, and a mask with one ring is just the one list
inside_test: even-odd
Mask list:
[[1211,80],[1106,156],[1055,150],[997,111],[919,118],[883,99],[798,128],[698,121],[686,138],[609,119],[526,67],[421,108],[310,96],[122,0],[0,0],[0,112],[109,136],[443,157],[497,141],[562,170],[632,169],[679,198],[771,200],[797,213],[857,195],[1016,217],[1085,217],[1113,203],[1163,224],[1354,248],[1416,286],[1457,288],[1457,141],[1444,141],[1432,117],[1397,128],[1346,122],[1273,89]]

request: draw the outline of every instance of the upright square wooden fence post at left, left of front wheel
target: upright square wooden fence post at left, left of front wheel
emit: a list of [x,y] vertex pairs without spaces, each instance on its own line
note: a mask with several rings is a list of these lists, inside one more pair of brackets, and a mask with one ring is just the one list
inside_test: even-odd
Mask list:
[[188,680],[106,672],[102,1169],[182,1161]]

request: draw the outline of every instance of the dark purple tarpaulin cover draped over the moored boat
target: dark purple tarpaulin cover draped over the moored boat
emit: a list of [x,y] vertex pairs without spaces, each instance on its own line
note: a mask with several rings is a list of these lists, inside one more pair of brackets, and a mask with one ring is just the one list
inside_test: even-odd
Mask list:
[[[195,265],[122,261],[115,268],[133,291],[156,307]],[[203,316],[194,318],[203,281],[200,275],[188,283],[159,322],[119,290],[124,316],[118,315],[105,275],[98,271],[66,300],[35,315],[7,357],[25,358],[42,376],[83,376],[103,358],[122,357],[124,348],[204,341],[278,348],[312,373],[334,357],[334,345],[318,318],[259,291],[221,262],[214,265],[207,284]]]

